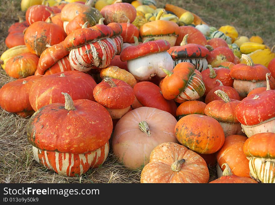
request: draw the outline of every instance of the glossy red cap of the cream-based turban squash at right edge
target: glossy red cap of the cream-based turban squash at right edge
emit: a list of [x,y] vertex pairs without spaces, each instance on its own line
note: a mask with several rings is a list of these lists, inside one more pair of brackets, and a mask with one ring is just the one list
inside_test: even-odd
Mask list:
[[275,117],[275,90],[249,95],[236,106],[235,113],[244,125],[259,124]]

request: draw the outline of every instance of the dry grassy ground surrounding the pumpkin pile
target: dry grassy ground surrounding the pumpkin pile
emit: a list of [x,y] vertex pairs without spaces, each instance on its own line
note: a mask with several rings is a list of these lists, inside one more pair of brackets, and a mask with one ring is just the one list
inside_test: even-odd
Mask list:
[[[5,38],[9,26],[18,21],[20,0],[0,1],[0,55],[8,48]],[[273,3],[272,3],[273,2]],[[232,25],[239,36],[259,35],[272,47],[275,39],[274,0],[185,0],[157,1],[183,7],[199,15],[210,26]],[[15,79],[0,70],[0,86]],[[139,183],[140,171],[130,171],[118,163],[110,150],[102,167],[90,169],[80,177],[63,177],[37,164],[32,147],[27,142],[28,118],[8,113],[0,108],[0,183]],[[210,180],[217,178],[215,166],[209,167]]]

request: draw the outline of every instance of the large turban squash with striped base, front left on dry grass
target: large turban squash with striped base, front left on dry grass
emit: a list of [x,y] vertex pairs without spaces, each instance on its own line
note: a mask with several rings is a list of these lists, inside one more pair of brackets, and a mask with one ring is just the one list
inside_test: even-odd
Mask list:
[[73,101],[68,93],[62,94],[65,104],[46,105],[32,115],[27,139],[36,148],[34,159],[41,164],[64,176],[79,176],[98,160],[97,154],[106,159],[113,123],[108,111],[97,102]]

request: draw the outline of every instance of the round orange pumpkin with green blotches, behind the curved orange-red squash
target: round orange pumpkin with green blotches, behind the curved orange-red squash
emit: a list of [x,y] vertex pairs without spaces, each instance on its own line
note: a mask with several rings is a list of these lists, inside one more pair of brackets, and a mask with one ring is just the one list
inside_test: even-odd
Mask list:
[[54,45],[63,41],[67,37],[63,28],[44,21],[37,21],[30,25],[25,34],[24,41],[30,52],[40,56],[47,48],[46,45]]

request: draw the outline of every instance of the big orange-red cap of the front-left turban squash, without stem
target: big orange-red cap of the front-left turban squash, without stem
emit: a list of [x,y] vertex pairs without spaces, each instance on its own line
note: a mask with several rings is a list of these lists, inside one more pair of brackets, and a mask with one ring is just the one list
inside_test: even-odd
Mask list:
[[[107,143],[113,130],[109,112],[99,103],[74,100],[76,110],[64,103],[46,105],[27,124],[27,139],[38,149],[83,154]],[[54,112],[53,112],[54,110]]]

